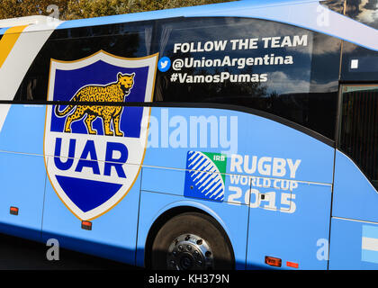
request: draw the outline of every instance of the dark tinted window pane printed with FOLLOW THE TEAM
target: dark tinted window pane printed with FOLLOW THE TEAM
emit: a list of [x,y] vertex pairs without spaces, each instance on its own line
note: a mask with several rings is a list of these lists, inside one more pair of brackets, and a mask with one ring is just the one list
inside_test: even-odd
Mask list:
[[155,99],[229,103],[270,112],[334,139],[340,40],[240,18],[159,23]]

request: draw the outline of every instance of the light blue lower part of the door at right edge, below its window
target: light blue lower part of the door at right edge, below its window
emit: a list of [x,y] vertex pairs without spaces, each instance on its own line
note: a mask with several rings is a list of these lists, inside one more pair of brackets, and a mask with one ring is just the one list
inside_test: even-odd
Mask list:
[[378,268],[378,233],[374,232],[378,229],[377,206],[374,186],[337,150],[332,207],[336,218],[331,223],[329,268]]

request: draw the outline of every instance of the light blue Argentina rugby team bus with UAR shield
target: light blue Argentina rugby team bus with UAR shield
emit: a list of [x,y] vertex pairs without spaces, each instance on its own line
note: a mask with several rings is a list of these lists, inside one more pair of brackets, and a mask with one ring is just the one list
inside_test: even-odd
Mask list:
[[0,232],[150,269],[377,269],[377,9],[1,21]]

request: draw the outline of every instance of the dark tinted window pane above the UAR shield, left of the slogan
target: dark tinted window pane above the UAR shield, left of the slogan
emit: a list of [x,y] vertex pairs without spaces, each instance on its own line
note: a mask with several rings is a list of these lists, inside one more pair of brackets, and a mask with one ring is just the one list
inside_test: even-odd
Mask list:
[[35,58],[15,100],[45,101],[50,59],[77,60],[103,49],[117,56],[135,58],[150,54],[151,25],[117,24],[54,31]]

